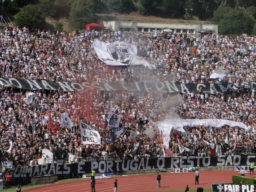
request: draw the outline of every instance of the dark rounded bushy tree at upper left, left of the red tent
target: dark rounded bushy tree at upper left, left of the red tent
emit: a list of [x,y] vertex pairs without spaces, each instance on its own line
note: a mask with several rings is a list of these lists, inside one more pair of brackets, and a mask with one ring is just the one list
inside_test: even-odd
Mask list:
[[14,22],[17,26],[26,25],[29,29],[41,28],[44,24],[44,14],[38,5],[26,5],[16,15]]

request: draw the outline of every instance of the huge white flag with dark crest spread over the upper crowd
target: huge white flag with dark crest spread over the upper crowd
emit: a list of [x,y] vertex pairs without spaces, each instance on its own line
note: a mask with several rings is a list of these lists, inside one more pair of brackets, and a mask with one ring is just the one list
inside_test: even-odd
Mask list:
[[137,56],[135,44],[120,41],[110,44],[96,40],[93,42],[93,47],[99,59],[106,65],[144,65],[155,69],[155,65],[149,64],[144,57]]

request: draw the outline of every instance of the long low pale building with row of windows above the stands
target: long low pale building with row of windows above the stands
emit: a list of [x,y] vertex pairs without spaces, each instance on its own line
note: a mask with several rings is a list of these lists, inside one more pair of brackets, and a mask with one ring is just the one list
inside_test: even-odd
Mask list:
[[111,31],[135,31],[137,33],[162,32],[165,29],[170,29],[173,33],[186,33],[193,36],[197,36],[203,32],[218,33],[218,25],[213,24],[105,21],[103,25]]

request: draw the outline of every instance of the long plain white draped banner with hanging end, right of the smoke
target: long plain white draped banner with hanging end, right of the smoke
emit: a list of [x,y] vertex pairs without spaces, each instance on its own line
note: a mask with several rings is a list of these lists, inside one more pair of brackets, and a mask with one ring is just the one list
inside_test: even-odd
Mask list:
[[205,127],[222,127],[228,125],[229,127],[240,127],[245,130],[247,129],[242,122],[234,122],[225,119],[173,119],[172,117],[160,122],[158,127],[163,137],[163,144],[166,147],[169,147],[169,135],[172,130],[185,132],[183,127],[196,127],[199,125]]

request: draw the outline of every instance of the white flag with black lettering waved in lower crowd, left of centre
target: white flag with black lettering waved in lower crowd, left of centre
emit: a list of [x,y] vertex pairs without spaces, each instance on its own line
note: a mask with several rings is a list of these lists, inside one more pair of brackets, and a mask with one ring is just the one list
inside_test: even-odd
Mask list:
[[101,144],[101,136],[98,131],[84,122],[80,123],[80,129],[82,144]]

